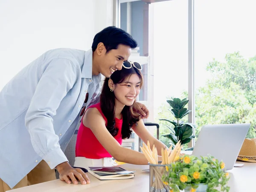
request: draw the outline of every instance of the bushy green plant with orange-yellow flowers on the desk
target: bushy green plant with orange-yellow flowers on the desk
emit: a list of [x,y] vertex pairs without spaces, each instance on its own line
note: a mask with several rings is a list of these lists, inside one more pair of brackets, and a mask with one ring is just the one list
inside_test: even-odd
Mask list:
[[228,192],[229,173],[224,172],[225,164],[209,155],[199,159],[195,156],[184,155],[166,166],[163,182],[171,187],[170,192],[218,192],[215,189],[221,186],[220,191]]

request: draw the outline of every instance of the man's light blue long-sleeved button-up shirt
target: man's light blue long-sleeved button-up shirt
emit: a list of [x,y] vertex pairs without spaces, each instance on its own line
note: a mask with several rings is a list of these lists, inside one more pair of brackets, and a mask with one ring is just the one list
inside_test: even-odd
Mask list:
[[41,160],[51,169],[67,161],[61,149],[73,136],[82,106],[99,102],[101,74],[92,76],[92,54],[49,50],[1,90],[0,178],[11,188]]

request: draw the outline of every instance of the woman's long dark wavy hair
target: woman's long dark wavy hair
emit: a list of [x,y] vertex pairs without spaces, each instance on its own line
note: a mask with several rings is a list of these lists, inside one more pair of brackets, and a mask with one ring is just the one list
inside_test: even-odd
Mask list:
[[[130,78],[132,74],[137,74],[140,78],[140,88],[143,84],[143,76],[140,73],[140,70],[137,70],[134,67],[131,69],[125,69],[122,67],[122,70],[117,70],[111,75],[111,80],[114,84],[120,84],[124,82],[127,78]],[[118,133],[118,128],[115,128],[115,95],[114,92],[108,87],[108,80],[110,78],[105,78],[102,93],[100,96],[100,106],[103,114],[107,118],[107,129],[114,137]],[[140,120],[140,115],[135,115],[132,106],[126,106],[122,110],[122,139],[130,138],[131,128],[134,124]]]

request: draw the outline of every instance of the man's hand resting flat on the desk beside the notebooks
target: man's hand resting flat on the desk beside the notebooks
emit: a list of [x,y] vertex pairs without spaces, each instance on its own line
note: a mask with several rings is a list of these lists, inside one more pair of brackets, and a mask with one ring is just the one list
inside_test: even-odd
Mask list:
[[79,168],[73,168],[68,162],[59,164],[56,166],[56,169],[60,174],[60,180],[66,181],[68,184],[71,183],[70,179],[74,184],[78,184],[76,179],[80,180],[83,185],[90,183],[90,179],[86,173]]

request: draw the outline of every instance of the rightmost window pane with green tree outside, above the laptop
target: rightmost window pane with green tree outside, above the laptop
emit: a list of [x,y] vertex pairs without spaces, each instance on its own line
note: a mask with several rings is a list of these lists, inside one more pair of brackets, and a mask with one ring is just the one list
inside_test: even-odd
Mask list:
[[256,137],[256,3],[195,0],[195,123],[249,123]]

